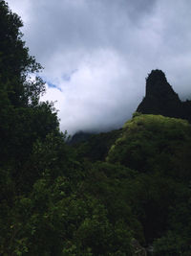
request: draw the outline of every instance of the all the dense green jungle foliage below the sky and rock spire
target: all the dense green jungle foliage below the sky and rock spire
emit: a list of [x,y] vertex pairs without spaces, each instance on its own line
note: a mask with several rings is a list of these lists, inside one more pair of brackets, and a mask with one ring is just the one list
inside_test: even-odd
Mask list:
[[0,1],[0,255],[189,256],[190,124],[135,113],[71,146],[21,27]]

